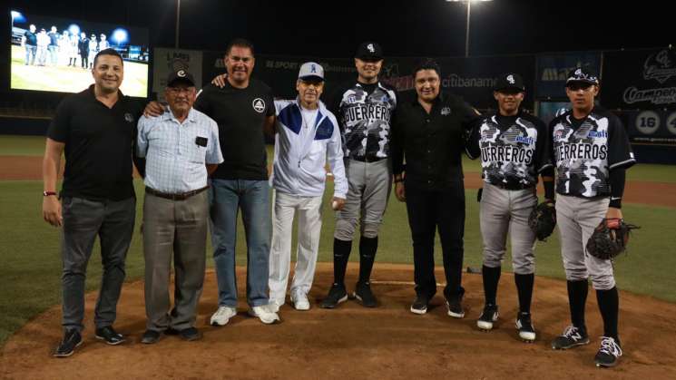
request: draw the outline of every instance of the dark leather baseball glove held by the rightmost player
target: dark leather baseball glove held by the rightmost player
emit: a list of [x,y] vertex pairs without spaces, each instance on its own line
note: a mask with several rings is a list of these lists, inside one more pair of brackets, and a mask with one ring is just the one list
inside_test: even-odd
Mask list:
[[603,219],[587,241],[587,252],[594,258],[615,258],[627,248],[632,229],[640,227],[627,224],[624,219]]

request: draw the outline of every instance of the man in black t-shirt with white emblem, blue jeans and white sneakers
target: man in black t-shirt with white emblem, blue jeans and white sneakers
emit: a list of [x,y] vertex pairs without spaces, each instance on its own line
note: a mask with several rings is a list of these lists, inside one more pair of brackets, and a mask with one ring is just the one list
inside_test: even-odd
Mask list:
[[[241,210],[247,239],[247,303],[249,313],[264,324],[279,321],[268,307],[269,184],[264,132],[271,134],[275,120],[272,90],[251,79],[255,63],[253,44],[235,39],[225,52],[228,71],[222,88],[206,85],[194,107],[219,124],[223,162],[211,175],[211,244],[219,287],[219,307],[211,325],[223,326],[237,315],[235,242],[237,214]],[[151,102],[146,114],[163,112]]]

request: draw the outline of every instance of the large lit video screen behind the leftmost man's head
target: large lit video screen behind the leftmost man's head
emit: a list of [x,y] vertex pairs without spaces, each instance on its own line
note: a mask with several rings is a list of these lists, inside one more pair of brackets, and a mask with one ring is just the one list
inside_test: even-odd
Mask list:
[[148,30],[44,15],[12,15],[11,80],[15,90],[79,93],[93,83],[94,56],[112,47],[124,60],[122,93],[148,95]]

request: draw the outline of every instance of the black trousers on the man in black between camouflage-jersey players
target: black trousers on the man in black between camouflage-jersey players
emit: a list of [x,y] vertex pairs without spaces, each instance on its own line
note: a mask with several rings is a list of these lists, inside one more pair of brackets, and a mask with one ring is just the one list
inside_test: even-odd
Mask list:
[[413,261],[418,296],[436,293],[435,235],[441,239],[446,287],[444,296],[460,297],[465,235],[465,189],[463,183],[450,190],[419,190],[406,186],[408,225],[413,239]]

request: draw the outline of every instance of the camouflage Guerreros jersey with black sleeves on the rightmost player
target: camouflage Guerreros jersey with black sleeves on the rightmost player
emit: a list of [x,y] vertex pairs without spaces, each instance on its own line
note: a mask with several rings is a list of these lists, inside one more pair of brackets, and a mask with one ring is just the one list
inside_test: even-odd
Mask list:
[[583,120],[565,112],[550,123],[550,131],[559,194],[609,196],[610,171],[636,162],[624,126],[611,112],[594,108]]

